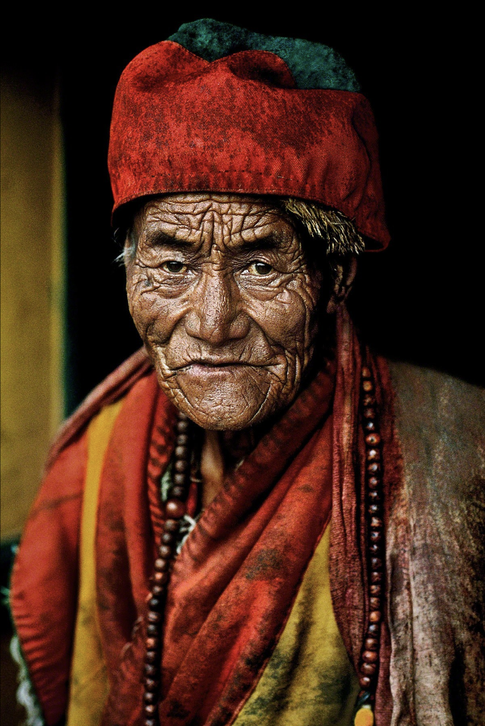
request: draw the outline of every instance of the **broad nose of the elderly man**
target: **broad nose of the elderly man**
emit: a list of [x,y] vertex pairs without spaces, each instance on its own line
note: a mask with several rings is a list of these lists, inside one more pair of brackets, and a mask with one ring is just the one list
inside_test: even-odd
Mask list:
[[241,310],[238,286],[231,272],[213,267],[202,272],[185,325],[188,335],[213,345],[246,336],[249,317]]

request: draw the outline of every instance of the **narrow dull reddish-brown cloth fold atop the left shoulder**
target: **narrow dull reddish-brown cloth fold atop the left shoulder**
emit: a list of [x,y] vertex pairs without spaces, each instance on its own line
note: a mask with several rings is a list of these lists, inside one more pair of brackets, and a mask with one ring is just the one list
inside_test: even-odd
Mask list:
[[99,386],[96,386],[86,396],[86,399],[82,401],[60,428],[49,451],[46,470],[49,470],[60,452],[76,439],[80,431],[86,428],[86,425],[102,408],[124,396],[140,378],[143,378],[151,370],[152,363],[146,354],[146,350],[140,348],[101,381]]

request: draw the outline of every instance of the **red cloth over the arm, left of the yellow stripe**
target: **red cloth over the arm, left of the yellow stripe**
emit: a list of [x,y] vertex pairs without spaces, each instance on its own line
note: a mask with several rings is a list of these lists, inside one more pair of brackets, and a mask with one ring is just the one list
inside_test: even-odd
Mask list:
[[12,617],[48,726],[65,715],[69,695],[86,462],[81,433],[43,481],[12,571]]

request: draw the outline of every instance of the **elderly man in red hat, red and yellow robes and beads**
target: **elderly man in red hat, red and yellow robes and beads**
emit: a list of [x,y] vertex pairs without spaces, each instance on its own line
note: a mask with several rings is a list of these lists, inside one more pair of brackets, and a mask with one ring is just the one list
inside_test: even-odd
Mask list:
[[325,46],[207,20],[123,73],[144,348],[65,425],[15,564],[48,725],[480,719],[483,397],[347,315],[389,242],[358,91]]

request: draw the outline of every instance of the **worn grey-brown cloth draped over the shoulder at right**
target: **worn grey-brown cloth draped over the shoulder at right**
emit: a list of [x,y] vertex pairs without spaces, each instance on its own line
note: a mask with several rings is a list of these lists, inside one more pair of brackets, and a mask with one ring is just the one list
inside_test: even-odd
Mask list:
[[392,363],[403,486],[389,513],[392,726],[485,714],[485,392]]

